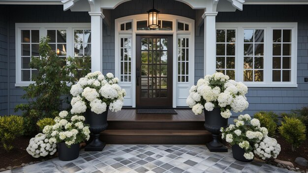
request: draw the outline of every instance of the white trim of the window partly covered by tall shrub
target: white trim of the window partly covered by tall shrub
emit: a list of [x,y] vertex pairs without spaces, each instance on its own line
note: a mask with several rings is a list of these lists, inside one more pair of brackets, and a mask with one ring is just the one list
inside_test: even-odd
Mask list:
[[66,57],[74,56],[73,30],[91,30],[91,23],[16,23],[15,24],[15,66],[16,87],[29,86],[33,81],[21,80],[21,30],[39,30],[39,37],[47,35],[47,30],[66,30]]

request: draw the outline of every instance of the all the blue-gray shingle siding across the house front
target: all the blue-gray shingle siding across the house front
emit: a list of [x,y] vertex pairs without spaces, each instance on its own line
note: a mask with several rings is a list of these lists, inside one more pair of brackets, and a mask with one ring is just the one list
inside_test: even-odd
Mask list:
[[[195,19],[195,11],[176,0],[158,0],[155,3],[161,13],[185,16]],[[131,0],[111,10],[110,30],[103,24],[103,73],[115,72],[114,20],[127,15],[143,14],[152,7],[152,0]],[[20,97],[24,91],[15,87],[15,23],[90,23],[88,12],[63,11],[62,5],[0,5],[0,115],[14,113],[16,104],[24,102]],[[11,9],[11,10],[10,10]],[[14,9],[14,10],[12,10]],[[250,87],[245,113],[259,110],[273,110],[277,113],[308,105],[308,5],[244,5],[244,10],[219,12],[217,22],[298,22],[298,69],[297,88],[253,88]],[[6,10],[9,12],[7,13]],[[19,11],[18,14],[14,11]],[[23,15],[20,15],[23,14]],[[6,16],[9,15],[9,23]],[[7,26],[9,37],[7,38]],[[109,30],[110,35],[107,34]],[[7,43],[9,39],[9,44]],[[195,36],[195,82],[203,77],[204,69],[204,27]],[[10,49],[7,51],[7,47]],[[8,63],[9,58],[9,63]],[[9,76],[7,76],[9,75]],[[9,82],[9,83],[8,83]],[[9,100],[8,103],[8,89]],[[9,112],[7,108],[9,107]],[[18,113],[17,113],[18,114]],[[234,114],[236,115],[236,114]]]

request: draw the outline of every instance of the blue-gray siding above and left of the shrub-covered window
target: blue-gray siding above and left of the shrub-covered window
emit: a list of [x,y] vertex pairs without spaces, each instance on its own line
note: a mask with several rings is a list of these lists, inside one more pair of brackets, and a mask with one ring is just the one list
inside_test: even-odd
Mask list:
[[[21,112],[14,112],[14,107],[17,104],[27,102],[21,99],[21,96],[25,94],[23,88],[15,87],[15,23],[91,23],[91,18],[88,12],[63,11],[63,5],[0,5],[0,7],[8,8],[10,11],[9,113],[21,114]],[[15,11],[18,11],[18,13],[15,13]]]

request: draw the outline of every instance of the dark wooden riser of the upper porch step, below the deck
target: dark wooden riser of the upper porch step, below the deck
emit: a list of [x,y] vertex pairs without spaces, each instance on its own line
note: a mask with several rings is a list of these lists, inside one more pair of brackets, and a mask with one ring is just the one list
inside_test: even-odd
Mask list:
[[108,130],[204,130],[204,121],[108,121]]

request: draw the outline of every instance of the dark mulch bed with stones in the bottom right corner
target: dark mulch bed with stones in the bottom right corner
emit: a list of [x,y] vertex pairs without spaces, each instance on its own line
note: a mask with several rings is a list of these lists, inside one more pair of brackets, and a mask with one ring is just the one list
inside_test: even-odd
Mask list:
[[294,167],[297,167],[301,170],[308,170],[308,167],[303,167],[294,162],[297,157],[308,159],[308,138],[301,144],[299,148],[296,148],[294,152],[291,150],[291,144],[286,142],[279,134],[277,134],[275,138],[281,146],[281,151],[277,159],[292,162]]

